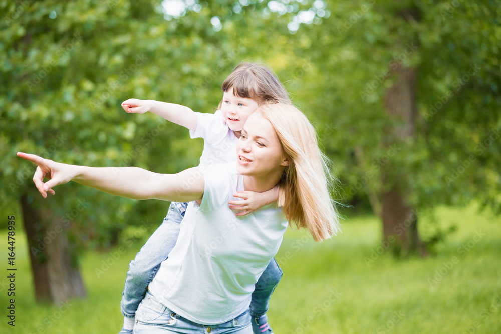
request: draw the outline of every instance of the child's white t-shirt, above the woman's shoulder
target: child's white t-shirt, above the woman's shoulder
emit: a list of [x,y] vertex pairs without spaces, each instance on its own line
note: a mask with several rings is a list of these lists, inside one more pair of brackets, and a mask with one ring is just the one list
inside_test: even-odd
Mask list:
[[222,112],[214,114],[195,113],[198,123],[195,131],[189,132],[191,138],[203,138],[203,151],[200,167],[236,161],[236,142],[238,138],[228,128]]

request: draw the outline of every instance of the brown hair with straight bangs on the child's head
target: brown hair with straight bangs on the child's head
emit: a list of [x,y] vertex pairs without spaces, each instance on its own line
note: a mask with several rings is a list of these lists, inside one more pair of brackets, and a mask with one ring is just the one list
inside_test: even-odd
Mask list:
[[224,80],[221,89],[223,92],[232,89],[235,96],[253,99],[258,103],[291,102],[284,85],[270,68],[261,63],[238,64]]

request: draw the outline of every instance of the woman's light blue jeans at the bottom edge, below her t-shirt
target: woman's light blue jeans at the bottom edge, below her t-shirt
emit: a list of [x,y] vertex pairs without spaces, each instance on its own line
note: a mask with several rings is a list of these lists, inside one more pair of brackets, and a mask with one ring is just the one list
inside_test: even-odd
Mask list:
[[228,322],[202,325],[175,314],[147,292],[136,312],[134,334],[157,333],[253,334],[253,331],[248,310]]

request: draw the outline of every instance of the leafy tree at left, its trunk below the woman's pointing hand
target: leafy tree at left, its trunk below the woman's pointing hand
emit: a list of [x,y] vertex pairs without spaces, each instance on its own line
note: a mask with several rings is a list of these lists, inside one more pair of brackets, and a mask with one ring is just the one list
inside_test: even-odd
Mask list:
[[[132,125],[107,116],[106,109],[116,94],[116,83],[120,86],[129,79],[130,64],[136,68],[144,60],[130,50],[114,53],[120,42],[105,41],[98,32],[110,29],[111,39],[120,29],[120,20],[133,9],[112,11],[109,4],[51,1],[2,6],[8,15],[2,22],[7,59],[1,87],[3,103],[10,106],[2,115],[7,120],[3,124],[9,124],[3,126],[1,137],[2,153],[10,166],[2,171],[10,180],[4,196],[20,201],[37,300],[84,297],[78,251],[86,242],[104,240],[119,229],[106,222],[123,221],[131,203],[115,200],[116,211],[103,214],[103,207],[91,206],[87,199],[105,197],[72,187],[42,201],[31,184],[34,169],[17,161],[15,152],[89,164],[106,163],[127,153],[130,143],[123,141],[133,135]],[[108,12],[114,14],[110,22],[104,18]],[[119,73],[122,82],[117,81]],[[99,117],[107,122],[96,121]],[[106,202],[111,206],[110,199],[101,203]]]

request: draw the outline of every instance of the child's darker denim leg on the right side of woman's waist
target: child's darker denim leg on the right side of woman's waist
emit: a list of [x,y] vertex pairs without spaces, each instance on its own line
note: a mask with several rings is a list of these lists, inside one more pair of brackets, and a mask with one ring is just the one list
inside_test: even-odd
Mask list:
[[279,285],[282,278],[282,270],[279,268],[274,258],[268,264],[265,271],[256,283],[256,289],[252,294],[250,301],[250,314],[260,317],[268,311],[268,304],[273,291]]

